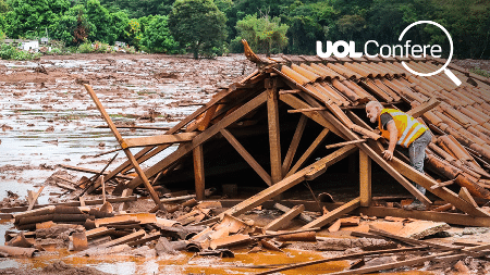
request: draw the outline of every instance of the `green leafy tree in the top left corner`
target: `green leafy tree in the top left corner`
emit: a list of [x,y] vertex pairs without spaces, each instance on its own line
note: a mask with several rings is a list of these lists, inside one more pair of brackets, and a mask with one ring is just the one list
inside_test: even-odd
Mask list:
[[11,0],[8,3],[5,30],[11,38],[44,34],[70,8],[69,0]]

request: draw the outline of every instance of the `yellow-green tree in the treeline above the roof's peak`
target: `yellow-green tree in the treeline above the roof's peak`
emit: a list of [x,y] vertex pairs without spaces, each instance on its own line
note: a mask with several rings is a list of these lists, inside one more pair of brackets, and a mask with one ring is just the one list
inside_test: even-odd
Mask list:
[[281,52],[287,46],[289,28],[286,24],[281,24],[280,17],[257,17],[256,13],[236,23],[238,36],[235,39],[246,39],[254,51],[270,55],[272,52]]

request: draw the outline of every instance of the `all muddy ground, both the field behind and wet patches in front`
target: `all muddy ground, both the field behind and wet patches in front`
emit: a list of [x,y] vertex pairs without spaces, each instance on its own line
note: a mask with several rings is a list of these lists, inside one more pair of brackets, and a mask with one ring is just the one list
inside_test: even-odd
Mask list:
[[[471,64],[483,70],[489,67],[488,63],[479,61],[457,64],[467,68]],[[108,128],[97,127],[106,123],[83,84],[94,87],[117,124],[164,129],[207,102],[217,89],[238,82],[255,68],[243,54],[215,60],[151,54],[74,54],[44,57],[35,62],[0,60],[0,208],[25,205],[27,190],[36,191],[40,186],[45,189],[39,203],[63,200],[64,197],[58,197],[64,190],[53,184],[51,175],[57,173],[76,182],[82,173],[66,172],[58,164],[100,171],[112,158],[113,153],[95,157],[117,149],[118,143]],[[121,134],[126,138],[150,136],[161,134],[162,129],[121,129]],[[119,154],[111,167],[124,160],[125,155]],[[149,160],[143,167],[155,161],[158,160]],[[151,201],[140,200],[132,203],[128,211],[148,209],[143,205],[145,202],[152,205]],[[264,218],[264,224],[279,215],[265,215],[267,211],[257,213],[252,211],[248,217],[256,222]],[[369,220],[363,220],[359,226],[366,227]],[[5,230],[12,227],[11,221],[0,221],[0,243],[4,242]],[[451,237],[442,241],[486,242],[490,232],[489,228],[453,227],[446,235]],[[342,230],[335,234],[322,230],[319,236],[323,241],[327,237],[347,238]],[[307,245],[292,246],[283,252],[256,253],[258,251],[242,249],[235,251],[234,259],[195,257],[191,252],[157,258],[155,251],[144,247],[127,254],[81,258],[53,247],[33,259],[0,259],[0,274],[253,274],[259,270],[250,265],[319,260],[354,249],[328,252],[319,245]],[[45,247],[50,248],[50,243]],[[393,258],[384,261],[393,261]],[[286,274],[335,272],[350,264],[352,262],[336,261]],[[465,264],[473,272],[488,271],[482,261],[469,259]],[[424,272],[401,268],[396,274],[452,274],[455,271],[442,263],[441,266],[427,263],[420,270]]]

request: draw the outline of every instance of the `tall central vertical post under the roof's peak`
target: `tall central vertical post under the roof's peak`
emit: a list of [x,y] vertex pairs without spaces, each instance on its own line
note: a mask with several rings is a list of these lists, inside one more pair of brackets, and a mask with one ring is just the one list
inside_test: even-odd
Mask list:
[[272,184],[282,179],[281,140],[279,128],[279,95],[274,78],[266,79],[267,118],[269,124],[270,176]]

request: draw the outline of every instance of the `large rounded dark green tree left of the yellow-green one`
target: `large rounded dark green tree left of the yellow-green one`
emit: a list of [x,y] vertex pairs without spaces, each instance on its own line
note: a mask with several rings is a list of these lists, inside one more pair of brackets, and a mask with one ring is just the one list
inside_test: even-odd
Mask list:
[[194,58],[211,53],[226,39],[226,16],[212,0],[176,0],[169,15],[169,28],[182,47]]

